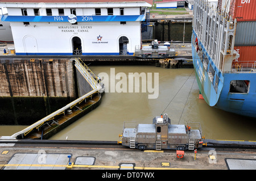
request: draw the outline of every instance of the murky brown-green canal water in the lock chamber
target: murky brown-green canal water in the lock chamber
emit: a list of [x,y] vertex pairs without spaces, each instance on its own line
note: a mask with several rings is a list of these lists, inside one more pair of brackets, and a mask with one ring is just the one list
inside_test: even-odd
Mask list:
[[[99,107],[55,134],[50,140],[67,138],[68,140],[117,141],[118,134],[122,133],[123,121],[151,124],[155,116],[167,113],[172,124],[200,122],[203,135],[208,139],[256,141],[255,119],[209,107],[204,100],[199,99],[199,88],[193,69],[164,69],[144,65],[90,66],[90,69],[95,74],[109,75],[109,78],[104,77],[104,82],[109,81],[109,84],[106,83],[106,89],[109,91],[102,97]],[[139,84],[131,86],[128,83],[129,73],[146,76],[142,76]],[[152,85],[150,84],[151,76],[147,73],[152,73]],[[118,79],[117,75],[122,77]],[[125,81],[123,82],[126,77],[127,85]],[[157,78],[158,82],[154,78]],[[121,80],[122,86],[120,86]],[[111,89],[113,85],[115,87]],[[146,88],[143,88],[144,85]],[[129,91],[130,87],[133,91]],[[154,88],[154,92],[148,87]],[[137,88],[139,91],[135,92]],[[148,99],[148,95],[153,93],[155,96],[158,95],[157,99]],[[12,130],[13,128],[15,131]],[[18,126],[1,126],[1,136],[11,135],[17,132],[18,128]]]

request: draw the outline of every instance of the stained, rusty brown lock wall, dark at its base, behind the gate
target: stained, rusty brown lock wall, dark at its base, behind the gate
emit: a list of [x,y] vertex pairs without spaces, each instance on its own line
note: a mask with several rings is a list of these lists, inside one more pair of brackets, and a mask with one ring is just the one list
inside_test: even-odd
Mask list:
[[[88,90],[70,60],[1,60],[0,124],[30,125]],[[79,88],[77,88],[79,87]]]

